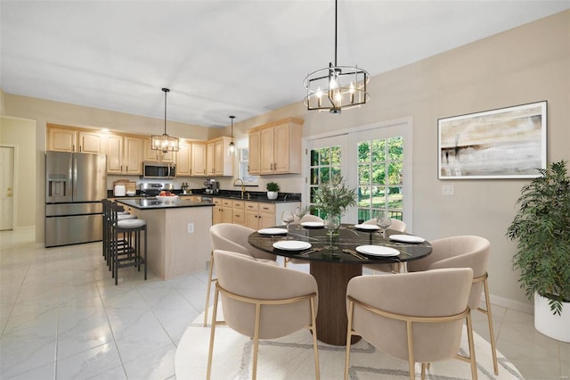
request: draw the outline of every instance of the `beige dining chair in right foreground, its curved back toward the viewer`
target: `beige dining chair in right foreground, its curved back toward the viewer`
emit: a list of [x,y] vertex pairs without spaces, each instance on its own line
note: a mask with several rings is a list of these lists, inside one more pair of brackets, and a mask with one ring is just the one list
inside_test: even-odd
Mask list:
[[[352,335],[360,335],[379,351],[408,360],[410,379],[421,363],[462,359],[477,378],[468,297],[473,270],[448,268],[387,276],[359,276],[346,287],[345,380],[350,366]],[[381,292],[378,291],[381,289]],[[459,354],[463,322],[467,321],[469,356]]]

